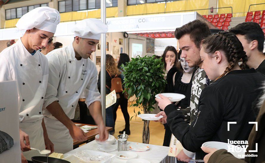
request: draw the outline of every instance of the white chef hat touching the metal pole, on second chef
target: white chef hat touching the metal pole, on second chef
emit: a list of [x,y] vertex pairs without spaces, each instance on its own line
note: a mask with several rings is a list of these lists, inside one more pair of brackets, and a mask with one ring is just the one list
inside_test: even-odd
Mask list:
[[104,24],[101,20],[95,18],[84,19],[78,22],[72,32],[74,32],[74,37],[78,36],[85,39],[100,39],[101,33],[106,33],[108,31],[108,26]]

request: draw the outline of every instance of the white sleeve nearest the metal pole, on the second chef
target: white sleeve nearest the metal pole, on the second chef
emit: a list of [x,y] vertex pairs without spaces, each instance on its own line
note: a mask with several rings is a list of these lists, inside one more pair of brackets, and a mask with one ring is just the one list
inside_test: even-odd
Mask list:
[[91,103],[95,101],[101,101],[100,99],[100,93],[97,88],[97,82],[98,82],[98,76],[97,76],[97,71],[94,69],[93,76],[91,77],[86,89],[85,89],[85,94],[86,94],[86,100],[85,103],[89,107]]

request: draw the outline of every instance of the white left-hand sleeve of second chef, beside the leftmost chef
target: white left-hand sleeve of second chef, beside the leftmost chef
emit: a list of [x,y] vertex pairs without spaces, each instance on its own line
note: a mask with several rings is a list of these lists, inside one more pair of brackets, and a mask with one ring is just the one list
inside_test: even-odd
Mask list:
[[46,90],[46,95],[43,103],[43,107],[46,108],[54,101],[57,101],[57,89],[60,82],[61,64],[56,55],[48,55],[49,61],[49,79]]

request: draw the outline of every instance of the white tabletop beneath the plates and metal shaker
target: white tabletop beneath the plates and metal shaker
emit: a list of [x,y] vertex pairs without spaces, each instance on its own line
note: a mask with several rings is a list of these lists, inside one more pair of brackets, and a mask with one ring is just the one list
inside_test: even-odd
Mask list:
[[[134,143],[134,142],[127,142],[127,149],[129,149],[130,143]],[[72,151],[69,151],[67,153],[64,154],[64,157],[70,156],[76,152],[85,150],[85,149],[89,149],[89,150],[93,150],[93,151],[97,151],[98,146],[100,144],[96,143],[96,140],[93,140],[81,147],[78,147]],[[117,141],[115,143],[115,145],[117,145]],[[177,162],[177,159],[174,157],[169,157],[168,151],[169,151],[169,147],[165,147],[165,146],[156,146],[156,145],[152,145],[152,144],[148,144],[148,146],[150,147],[149,150],[144,151],[144,152],[135,152],[132,150],[128,150],[128,151],[132,151],[138,154],[137,158],[138,159],[146,159],[148,161],[150,161],[151,163],[175,163]],[[110,154],[116,154],[118,151],[114,151],[114,152],[107,152]],[[124,159],[119,159],[117,157],[115,157],[113,163],[126,163],[128,160],[124,160]]]

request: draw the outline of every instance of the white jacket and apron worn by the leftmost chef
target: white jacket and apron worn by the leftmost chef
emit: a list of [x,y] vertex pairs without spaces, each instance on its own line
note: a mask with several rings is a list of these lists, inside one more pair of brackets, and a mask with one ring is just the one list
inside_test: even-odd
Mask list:
[[[39,51],[32,56],[21,39],[0,53],[0,81],[17,81],[19,128],[29,135],[30,146],[37,149],[45,149],[41,122],[48,73],[47,58]],[[29,160],[41,156],[33,150],[23,154]]]

